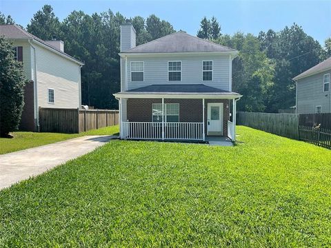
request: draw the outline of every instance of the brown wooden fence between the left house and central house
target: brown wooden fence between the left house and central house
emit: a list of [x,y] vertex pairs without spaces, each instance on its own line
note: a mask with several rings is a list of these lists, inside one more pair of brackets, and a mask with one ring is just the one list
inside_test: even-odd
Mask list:
[[119,110],[79,110],[39,107],[40,132],[75,134],[119,124]]

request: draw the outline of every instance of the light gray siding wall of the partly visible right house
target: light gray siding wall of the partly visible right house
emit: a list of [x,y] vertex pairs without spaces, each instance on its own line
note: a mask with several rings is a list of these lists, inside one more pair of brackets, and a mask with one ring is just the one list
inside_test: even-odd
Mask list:
[[328,70],[297,81],[298,114],[313,114],[316,112],[316,106],[319,105],[322,113],[331,112],[330,89],[329,92],[323,92],[323,75],[328,73],[331,76],[331,70]]

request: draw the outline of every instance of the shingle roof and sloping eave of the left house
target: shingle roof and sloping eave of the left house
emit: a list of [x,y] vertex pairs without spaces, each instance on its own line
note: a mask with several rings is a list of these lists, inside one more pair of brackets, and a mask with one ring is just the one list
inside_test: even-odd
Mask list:
[[26,30],[23,30],[23,28],[20,28],[18,25],[15,25],[15,24],[0,25],[0,35],[4,35],[7,39],[33,39],[35,41],[39,41],[40,43],[43,43],[43,45],[48,46],[48,48],[50,48],[50,50],[56,50],[57,52],[60,52],[61,54],[68,56],[70,59],[74,59],[75,61],[83,64],[83,62],[79,61],[78,59],[75,59],[73,56],[70,56],[69,54],[66,54],[66,52],[62,52],[61,50],[54,48],[52,45],[50,45],[46,41],[43,41],[42,39],[39,39],[38,37],[34,36],[33,34],[26,32]]

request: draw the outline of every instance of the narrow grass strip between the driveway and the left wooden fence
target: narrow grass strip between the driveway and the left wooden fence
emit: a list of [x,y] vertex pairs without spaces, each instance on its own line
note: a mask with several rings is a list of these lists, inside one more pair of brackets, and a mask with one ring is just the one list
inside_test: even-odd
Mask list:
[[103,127],[99,130],[90,130],[81,134],[57,134],[41,132],[12,132],[14,138],[0,138],[0,154],[16,152],[21,149],[47,145],[69,138],[77,138],[84,135],[111,135],[119,132],[119,126]]

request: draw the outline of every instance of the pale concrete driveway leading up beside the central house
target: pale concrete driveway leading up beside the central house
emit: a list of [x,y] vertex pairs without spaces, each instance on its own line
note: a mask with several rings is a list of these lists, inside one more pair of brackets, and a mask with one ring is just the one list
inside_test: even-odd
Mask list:
[[77,158],[117,136],[83,136],[0,155],[0,189]]

